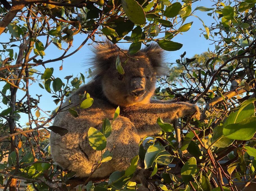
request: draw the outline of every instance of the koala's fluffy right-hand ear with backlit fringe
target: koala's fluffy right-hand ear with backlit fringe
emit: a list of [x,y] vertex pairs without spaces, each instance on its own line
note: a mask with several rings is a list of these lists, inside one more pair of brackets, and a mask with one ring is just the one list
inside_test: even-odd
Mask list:
[[151,64],[153,65],[156,75],[161,76],[167,74],[169,69],[164,60],[164,50],[158,46],[156,43],[150,44],[147,48],[144,49],[144,52],[148,56]]

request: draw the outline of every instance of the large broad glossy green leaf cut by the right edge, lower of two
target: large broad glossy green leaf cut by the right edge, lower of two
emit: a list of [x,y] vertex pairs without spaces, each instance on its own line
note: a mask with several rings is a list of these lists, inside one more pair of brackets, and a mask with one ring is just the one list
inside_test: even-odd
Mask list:
[[256,117],[251,116],[235,124],[223,127],[223,135],[229,139],[250,140],[256,132]]

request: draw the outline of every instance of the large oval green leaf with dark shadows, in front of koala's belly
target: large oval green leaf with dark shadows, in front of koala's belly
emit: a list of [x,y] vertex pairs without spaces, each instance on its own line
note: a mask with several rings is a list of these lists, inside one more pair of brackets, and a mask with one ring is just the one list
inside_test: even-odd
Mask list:
[[106,148],[106,145],[107,145],[106,137],[93,127],[90,127],[88,130],[88,140],[89,140],[90,146],[94,150],[103,150],[104,148]]

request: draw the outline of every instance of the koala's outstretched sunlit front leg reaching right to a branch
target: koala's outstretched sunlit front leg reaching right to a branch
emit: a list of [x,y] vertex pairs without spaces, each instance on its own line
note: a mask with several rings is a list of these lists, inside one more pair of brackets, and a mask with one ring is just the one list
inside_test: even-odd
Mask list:
[[172,122],[176,116],[180,118],[193,115],[200,119],[201,115],[196,105],[187,102],[137,104],[122,110],[123,115],[132,121],[141,137],[153,135],[160,130],[157,124],[158,117],[165,122]]

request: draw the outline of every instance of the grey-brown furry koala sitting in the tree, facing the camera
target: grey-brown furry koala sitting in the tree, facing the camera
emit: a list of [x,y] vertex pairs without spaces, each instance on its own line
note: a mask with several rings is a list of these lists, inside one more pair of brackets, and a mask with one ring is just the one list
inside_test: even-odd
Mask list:
[[[139,142],[142,138],[160,131],[157,118],[165,122],[185,115],[200,119],[200,110],[187,102],[153,100],[157,76],[166,72],[163,63],[163,50],[157,44],[151,44],[140,50],[133,58],[128,58],[110,42],[98,44],[93,49],[92,66],[95,77],[80,87],[72,96],[71,104],[65,102],[63,112],[56,115],[53,125],[69,132],[60,136],[51,132],[51,155],[62,168],[76,172],[78,177],[88,177],[92,168],[101,160],[101,151],[93,150],[89,145],[88,129],[101,129],[103,119],[110,121],[115,109],[120,107],[120,115],[112,123],[112,133],[107,138],[105,150],[112,150],[113,158],[103,163],[91,178],[105,178],[117,170],[126,170],[131,159],[139,154]],[[121,60],[124,74],[116,69],[117,56]],[[127,60],[128,58],[128,60]],[[84,92],[94,99],[91,107],[80,109],[81,95]],[[67,109],[77,106],[78,117],[73,117]],[[103,153],[105,152],[103,150]],[[133,180],[143,183],[146,171],[138,167]],[[149,174],[150,175],[150,174]],[[148,175],[148,176],[149,176]]]

